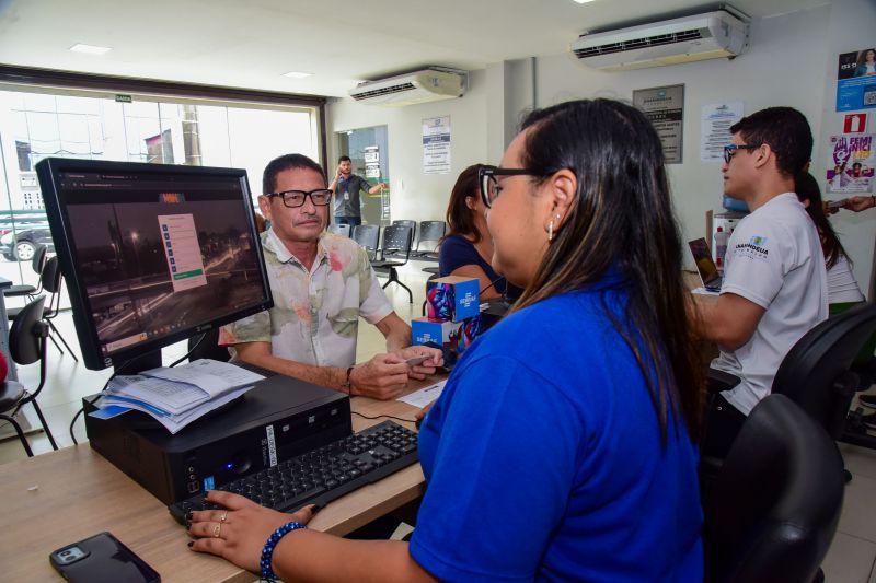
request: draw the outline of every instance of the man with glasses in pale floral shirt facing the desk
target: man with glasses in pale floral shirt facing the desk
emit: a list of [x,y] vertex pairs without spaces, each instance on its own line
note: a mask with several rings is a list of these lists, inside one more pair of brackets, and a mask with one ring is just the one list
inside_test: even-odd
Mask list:
[[[342,390],[391,399],[408,376],[424,378],[441,364],[440,350],[411,347],[411,327],[387,300],[368,255],[354,241],[325,232],[332,191],[314,161],[287,154],[264,172],[262,234],[274,307],[222,328],[234,358]],[[387,338],[385,354],[355,365],[359,317]],[[416,366],[405,362],[429,360]]]

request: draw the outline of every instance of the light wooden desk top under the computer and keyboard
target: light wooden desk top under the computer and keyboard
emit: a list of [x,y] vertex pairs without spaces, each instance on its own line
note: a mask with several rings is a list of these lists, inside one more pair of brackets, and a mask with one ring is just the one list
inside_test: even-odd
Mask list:
[[[412,383],[411,392],[436,377]],[[413,419],[416,409],[400,401],[353,398],[367,416]],[[355,431],[382,421],[353,416]],[[414,423],[403,423],[414,429]],[[419,464],[356,490],[320,511],[311,528],[347,534],[423,495]],[[163,582],[251,582],[251,573],[224,559],[192,552],[185,529],[166,506],[110,464],[88,444],[0,466],[0,565],[4,581],[61,581],[48,555],[102,530],[110,530],[154,568]]]

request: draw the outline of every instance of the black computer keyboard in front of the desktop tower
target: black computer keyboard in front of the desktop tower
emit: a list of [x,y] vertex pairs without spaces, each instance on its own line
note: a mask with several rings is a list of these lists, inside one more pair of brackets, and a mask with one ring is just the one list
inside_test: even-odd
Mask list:
[[[217,489],[245,495],[280,512],[292,512],[307,504],[326,504],[418,460],[417,434],[383,421]],[[185,525],[189,511],[220,508],[204,495],[176,502],[168,510]]]

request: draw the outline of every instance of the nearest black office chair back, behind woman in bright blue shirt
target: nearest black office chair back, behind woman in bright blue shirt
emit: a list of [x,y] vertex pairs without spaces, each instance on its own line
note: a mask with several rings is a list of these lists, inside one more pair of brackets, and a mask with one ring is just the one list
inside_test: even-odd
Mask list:
[[703,499],[705,581],[811,582],[840,520],[842,459],[785,395],[761,400]]

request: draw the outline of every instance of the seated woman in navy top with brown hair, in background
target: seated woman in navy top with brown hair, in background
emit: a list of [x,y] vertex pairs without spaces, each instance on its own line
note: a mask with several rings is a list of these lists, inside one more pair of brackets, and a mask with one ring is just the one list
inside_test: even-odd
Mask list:
[[481,300],[505,293],[505,278],[493,270],[493,237],[486,229],[486,218],[477,172],[483,164],[462,171],[450,193],[447,205],[449,233],[438,253],[438,273],[441,277],[477,278]]

